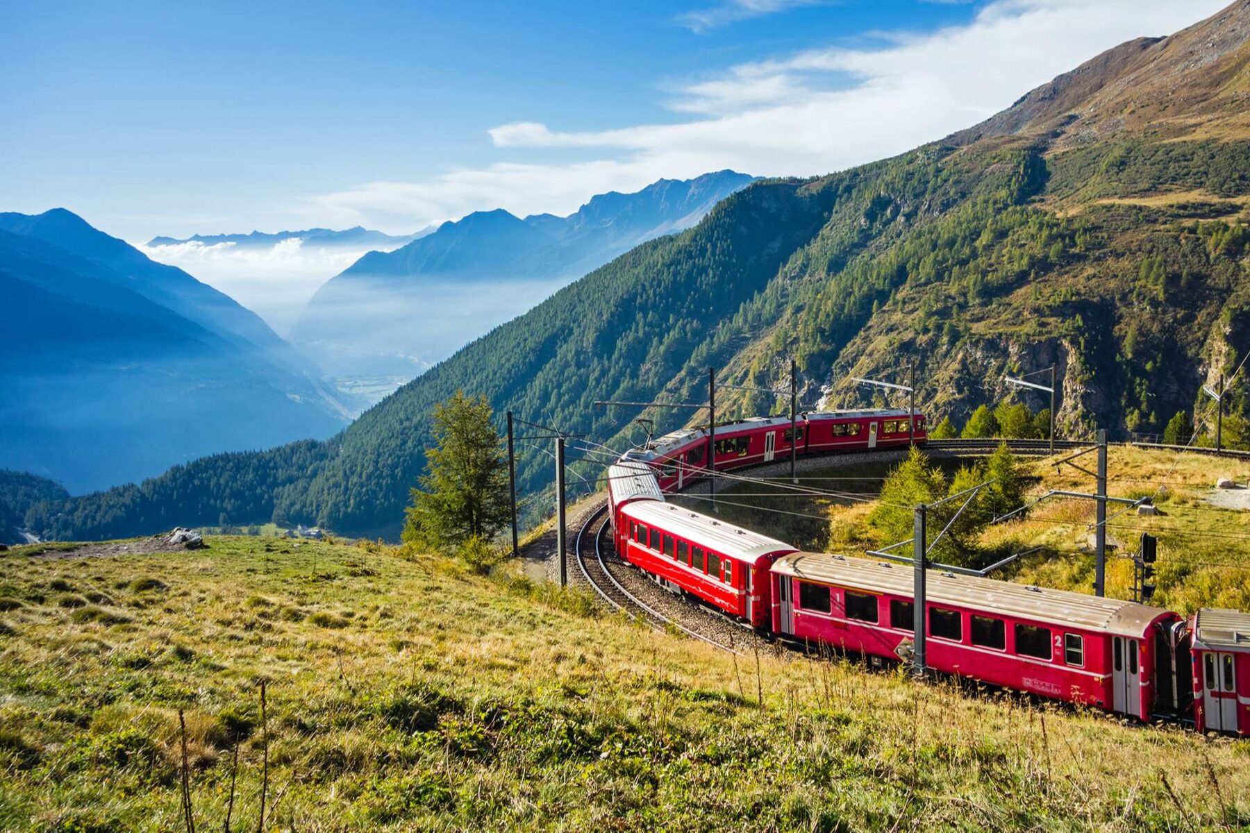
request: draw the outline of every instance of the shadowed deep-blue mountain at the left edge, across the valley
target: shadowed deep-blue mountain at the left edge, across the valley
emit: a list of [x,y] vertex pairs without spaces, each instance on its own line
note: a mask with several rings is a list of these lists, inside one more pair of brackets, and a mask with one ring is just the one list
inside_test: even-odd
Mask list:
[[81,217],[0,214],[0,466],[81,492],[348,411],[259,317]]

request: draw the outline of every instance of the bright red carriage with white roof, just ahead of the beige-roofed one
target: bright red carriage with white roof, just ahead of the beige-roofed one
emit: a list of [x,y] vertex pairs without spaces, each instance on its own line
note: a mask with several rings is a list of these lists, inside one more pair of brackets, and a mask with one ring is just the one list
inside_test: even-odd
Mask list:
[[672,503],[639,500],[616,515],[616,553],[660,584],[691,593],[754,627],[768,624],[769,568],[794,547]]

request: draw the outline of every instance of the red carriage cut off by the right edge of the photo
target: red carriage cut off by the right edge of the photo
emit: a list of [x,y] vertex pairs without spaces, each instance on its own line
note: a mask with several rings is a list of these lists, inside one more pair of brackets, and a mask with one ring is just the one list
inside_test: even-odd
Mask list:
[[1250,736],[1250,613],[1204,607],[1190,632],[1194,728]]

